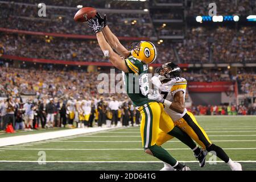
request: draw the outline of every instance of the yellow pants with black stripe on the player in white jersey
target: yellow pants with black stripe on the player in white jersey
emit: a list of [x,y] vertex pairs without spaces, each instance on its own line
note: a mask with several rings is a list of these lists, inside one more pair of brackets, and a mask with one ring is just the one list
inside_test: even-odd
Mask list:
[[[185,119],[181,118],[179,121],[174,122],[175,126],[179,127],[181,130],[183,130],[185,133],[189,135],[193,140],[196,141],[197,144],[199,144],[202,148],[205,149],[205,145],[212,144],[210,142],[208,135],[205,133],[204,129],[197,123],[195,116],[187,111],[187,114],[189,117],[191,117],[194,125],[191,127]],[[161,146],[163,143],[167,142],[168,140],[172,139],[171,135],[168,135],[164,131],[160,131],[158,135],[158,140],[156,141],[156,144],[158,146]]]

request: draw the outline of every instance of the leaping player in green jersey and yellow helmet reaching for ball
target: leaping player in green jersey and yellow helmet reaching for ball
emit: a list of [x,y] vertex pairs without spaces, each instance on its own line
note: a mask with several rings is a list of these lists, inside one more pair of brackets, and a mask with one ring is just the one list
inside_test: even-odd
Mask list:
[[[188,171],[187,166],[177,162],[164,148],[156,145],[159,129],[161,129],[165,133],[180,139],[190,148],[196,147],[195,142],[186,133],[180,130],[179,127],[174,126],[170,116],[164,112],[163,104],[147,97],[149,90],[148,64],[156,59],[154,44],[142,41],[134,44],[133,49],[129,52],[106,26],[106,16],[101,18],[100,14],[97,14],[96,18],[88,21],[88,25],[96,33],[98,44],[100,44],[105,57],[108,57],[115,68],[123,72],[126,92],[142,115],[141,138],[146,154],[155,156],[177,170]],[[122,57],[115,53],[113,49]],[[135,91],[137,84],[139,84],[139,92]]]

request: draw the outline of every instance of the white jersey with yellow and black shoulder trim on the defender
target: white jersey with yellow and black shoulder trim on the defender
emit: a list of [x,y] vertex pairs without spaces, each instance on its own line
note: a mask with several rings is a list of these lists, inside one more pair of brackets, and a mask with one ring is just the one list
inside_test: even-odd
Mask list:
[[[187,88],[187,80],[185,78],[176,77],[176,78],[172,78],[168,82],[162,83],[159,80],[158,76],[154,76],[152,77],[152,84],[154,84],[155,88],[159,90],[159,93],[164,99],[171,102],[174,101],[175,93],[179,91],[183,91],[184,92],[183,97],[185,101],[185,93]],[[184,112],[180,114],[166,107],[164,107],[164,111],[166,111],[166,113],[170,115],[170,117],[172,118],[172,121],[179,120],[184,116],[185,113],[187,113],[187,109],[184,109]]]

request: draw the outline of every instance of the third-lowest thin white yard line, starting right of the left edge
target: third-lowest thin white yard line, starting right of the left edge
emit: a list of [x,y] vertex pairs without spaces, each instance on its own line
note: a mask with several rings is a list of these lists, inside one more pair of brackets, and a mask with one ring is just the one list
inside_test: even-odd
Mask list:
[[[256,140],[211,140],[212,142],[256,142]],[[136,140],[136,141],[79,141],[79,140],[72,140],[72,141],[52,141],[52,142],[60,142],[60,143],[141,143],[141,140]],[[167,141],[168,143],[173,143],[173,142],[180,142],[180,141]]]

